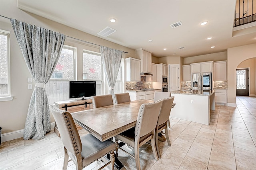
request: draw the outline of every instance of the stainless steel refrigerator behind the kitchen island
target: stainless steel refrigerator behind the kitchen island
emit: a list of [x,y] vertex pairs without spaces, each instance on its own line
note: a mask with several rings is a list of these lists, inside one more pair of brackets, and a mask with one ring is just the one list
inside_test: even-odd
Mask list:
[[192,73],[192,89],[212,90],[212,73]]

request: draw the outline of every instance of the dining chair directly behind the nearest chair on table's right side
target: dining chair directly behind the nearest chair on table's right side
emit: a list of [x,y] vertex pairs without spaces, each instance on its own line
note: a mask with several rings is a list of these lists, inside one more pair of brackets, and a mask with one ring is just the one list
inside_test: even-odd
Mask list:
[[158,133],[160,133],[162,130],[164,130],[164,134],[166,136],[166,141],[169,146],[171,146],[169,135],[168,135],[168,128],[167,128],[167,122],[169,120],[170,112],[172,109],[172,104],[174,100],[174,96],[170,98],[164,98],[162,108],[158,117],[158,121],[156,124],[156,131],[155,131],[155,143],[156,143],[156,151],[158,154],[158,158],[161,158],[159,145],[158,145]]

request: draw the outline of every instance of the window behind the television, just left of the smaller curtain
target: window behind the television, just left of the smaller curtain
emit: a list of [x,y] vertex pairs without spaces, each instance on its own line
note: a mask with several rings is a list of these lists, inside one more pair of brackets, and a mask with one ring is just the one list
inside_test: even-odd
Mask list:
[[93,51],[83,51],[83,79],[96,81],[96,96],[103,94],[101,54]]

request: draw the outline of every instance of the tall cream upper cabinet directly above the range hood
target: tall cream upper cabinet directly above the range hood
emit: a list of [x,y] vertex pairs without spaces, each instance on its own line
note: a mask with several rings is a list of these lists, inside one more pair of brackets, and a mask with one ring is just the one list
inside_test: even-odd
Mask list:
[[136,49],[136,57],[141,61],[141,72],[151,73],[152,53],[144,49]]

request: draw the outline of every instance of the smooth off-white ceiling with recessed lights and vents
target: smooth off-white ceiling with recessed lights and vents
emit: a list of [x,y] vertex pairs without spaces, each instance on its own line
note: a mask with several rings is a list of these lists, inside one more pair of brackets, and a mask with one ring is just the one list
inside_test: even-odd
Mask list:
[[[22,10],[131,49],[146,49],[152,52],[154,57],[192,57],[256,43],[256,31],[240,33],[232,37],[236,0],[18,0],[17,2],[18,8]],[[116,18],[117,21],[111,23],[110,18]],[[181,21],[182,25],[175,28],[170,26],[178,21]],[[200,25],[203,21],[208,23]],[[107,26],[117,31],[108,37],[97,34]],[[207,40],[208,37],[212,39]],[[215,48],[211,48],[212,46]],[[178,49],[179,47],[184,49]]]

